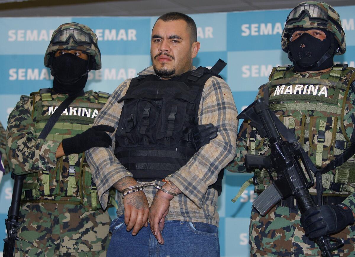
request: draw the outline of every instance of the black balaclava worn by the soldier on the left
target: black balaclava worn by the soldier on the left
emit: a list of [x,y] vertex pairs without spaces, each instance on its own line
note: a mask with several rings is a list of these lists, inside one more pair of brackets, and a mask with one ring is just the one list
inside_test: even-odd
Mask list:
[[88,65],[89,60],[81,59],[71,53],[54,57],[51,68],[51,74],[54,76],[54,91],[69,95],[82,91],[88,79]]

